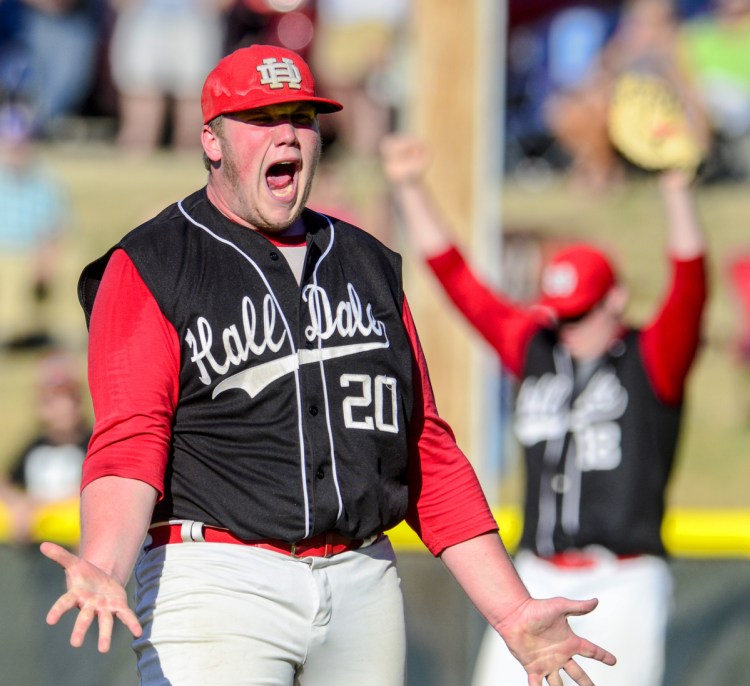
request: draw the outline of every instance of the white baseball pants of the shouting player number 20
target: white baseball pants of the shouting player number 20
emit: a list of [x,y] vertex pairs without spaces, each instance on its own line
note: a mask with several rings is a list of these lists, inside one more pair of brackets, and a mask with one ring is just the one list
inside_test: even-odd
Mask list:
[[142,686],[403,686],[403,599],[387,537],[331,558],[165,545],[135,570]]

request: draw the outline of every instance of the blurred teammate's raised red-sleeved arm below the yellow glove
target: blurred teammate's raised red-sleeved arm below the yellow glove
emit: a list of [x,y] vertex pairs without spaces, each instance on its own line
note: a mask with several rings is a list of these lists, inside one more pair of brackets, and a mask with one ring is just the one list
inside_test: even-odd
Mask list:
[[700,343],[707,299],[706,242],[689,175],[671,170],[663,172],[659,181],[673,273],[661,309],[642,330],[641,351],[656,394],[675,404],[682,399],[685,378]]

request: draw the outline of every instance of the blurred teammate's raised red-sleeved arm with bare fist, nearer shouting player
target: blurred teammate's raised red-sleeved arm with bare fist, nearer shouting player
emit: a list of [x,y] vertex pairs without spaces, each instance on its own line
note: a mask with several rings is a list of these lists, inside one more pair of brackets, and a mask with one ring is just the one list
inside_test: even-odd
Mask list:
[[520,377],[526,349],[542,320],[486,285],[469,267],[424,184],[426,145],[406,134],[381,146],[383,169],[412,247],[476,331],[497,352],[505,368]]

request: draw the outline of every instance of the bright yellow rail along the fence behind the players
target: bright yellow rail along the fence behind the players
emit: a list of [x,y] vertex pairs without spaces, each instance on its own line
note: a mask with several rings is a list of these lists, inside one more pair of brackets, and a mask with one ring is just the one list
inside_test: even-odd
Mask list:
[[[510,551],[521,536],[522,516],[517,507],[493,511],[500,533]],[[675,557],[750,558],[750,510],[673,508],[662,528],[664,542]],[[397,550],[425,552],[417,535],[406,525],[388,532]],[[75,545],[80,536],[78,500],[48,505],[37,510],[32,538]],[[11,517],[0,503],[0,543],[11,539]]]

